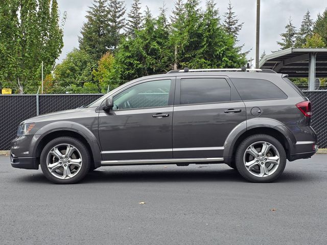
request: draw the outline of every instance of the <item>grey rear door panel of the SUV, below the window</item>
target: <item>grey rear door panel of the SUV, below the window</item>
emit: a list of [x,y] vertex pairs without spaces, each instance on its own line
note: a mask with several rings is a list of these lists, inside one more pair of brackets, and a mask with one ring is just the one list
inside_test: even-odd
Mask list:
[[[225,113],[228,109],[239,109],[241,112]],[[223,156],[228,134],[245,118],[243,102],[176,106],[173,120],[174,158]]]

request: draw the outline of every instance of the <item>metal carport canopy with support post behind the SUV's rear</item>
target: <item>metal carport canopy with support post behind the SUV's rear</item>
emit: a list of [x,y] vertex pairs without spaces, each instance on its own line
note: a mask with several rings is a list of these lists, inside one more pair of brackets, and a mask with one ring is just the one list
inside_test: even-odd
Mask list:
[[313,80],[315,77],[327,77],[327,48],[290,47],[266,55],[259,67],[273,69],[293,78],[308,78],[311,72]]

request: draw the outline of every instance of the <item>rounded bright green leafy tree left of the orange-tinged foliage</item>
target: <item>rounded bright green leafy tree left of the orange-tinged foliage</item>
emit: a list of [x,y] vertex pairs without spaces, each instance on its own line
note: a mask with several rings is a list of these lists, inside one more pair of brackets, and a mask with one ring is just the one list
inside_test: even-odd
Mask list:
[[96,62],[85,50],[74,50],[67,54],[67,57],[54,69],[54,80],[56,85],[67,87],[76,82],[93,81],[92,70]]

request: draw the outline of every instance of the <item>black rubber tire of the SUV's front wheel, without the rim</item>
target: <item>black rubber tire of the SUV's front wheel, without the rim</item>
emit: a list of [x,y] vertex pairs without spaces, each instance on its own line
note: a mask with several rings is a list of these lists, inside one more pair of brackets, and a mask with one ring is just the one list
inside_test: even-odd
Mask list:
[[[75,176],[69,179],[60,179],[55,177],[50,173],[50,170],[46,164],[46,158],[48,157],[48,153],[56,146],[60,144],[70,144],[73,145],[80,153],[82,164],[80,166],[79,171],[75,174]],[[74,184],[81,181],[88,173],[91,166],[91,158],[90,153],[87,147],[84,145],[82,141],[73,137],[58,137],[51,140],[48,144],[46,144],[41,152],[40,156],[40,166],[44,176],[56,184]],[[68,165],[69,166],[69,165]],[[58,169],[59,170],[59,169]]]

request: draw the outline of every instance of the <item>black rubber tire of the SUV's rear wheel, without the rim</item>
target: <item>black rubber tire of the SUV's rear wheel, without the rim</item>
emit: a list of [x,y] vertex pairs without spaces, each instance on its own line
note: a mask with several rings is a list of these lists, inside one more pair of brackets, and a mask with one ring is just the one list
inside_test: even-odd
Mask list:
[[[252,175],[249,170],[247,170],[243,157],[245,154],[245,151],[247,148],[251,145],[254,144],[255,142],[259,141],[265,141],[270,144],[272,144],[276,150],[279,153],[279,164],[276,167],[276,170],[269,176],[265,177],[257,177]],[[250,182],[255,182],[255,183],[267,183],[267,182],[273,182],[275,181],[279,176],[282,175],[285,166],[286,166],[286,152],[284,149],[284,146],[279,142],[276,138],[270,136],[270,135],[265,135],[265,134],[258,134],[258,135],[253,135],[249,136],[246,139],[244,139],[241,144],[239,145],[237,151],[236,151],[236,156],[235,156],[235,164],[236,168],[239,171],[239,173],[248,181]],[[260,167],[260,165],[259,165]],[[260,168],[259,168],[260,169]]]

